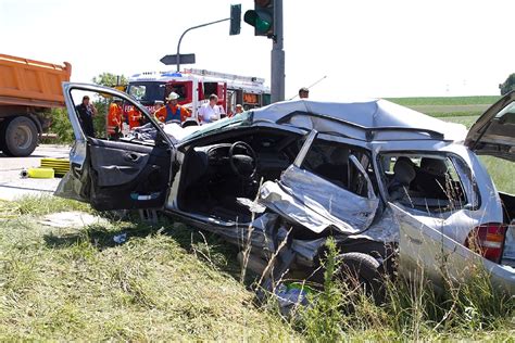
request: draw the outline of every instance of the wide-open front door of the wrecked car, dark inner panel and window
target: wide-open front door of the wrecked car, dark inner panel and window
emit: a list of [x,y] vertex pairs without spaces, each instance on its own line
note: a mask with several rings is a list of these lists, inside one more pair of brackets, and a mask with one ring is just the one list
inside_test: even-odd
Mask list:
[[[175,148],[147,109],[112,88],[66,82],[63,91],[75,143],[55,195],[100,211],[163,207]],[[141,127],[128,128],[128,113]]]

